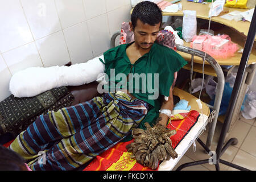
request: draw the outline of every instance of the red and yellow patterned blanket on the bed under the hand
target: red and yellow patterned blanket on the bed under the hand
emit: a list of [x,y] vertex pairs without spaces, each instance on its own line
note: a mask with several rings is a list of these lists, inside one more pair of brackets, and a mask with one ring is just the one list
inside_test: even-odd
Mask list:
[[[168,123],[167,128],[176,130],[177,133],[171,137],[172,147],[176,148],[187,132],[195,125],[199,118],[199,113],[195,110],[181,114],[184,119],[175,119]],[[131,152],[125,148],[127,144],[133,142],[119,142],[114,147],[96,156],[84,171],[152,171],[144,167],[131,158]],[[156,169],[157,170],[157,169]]]

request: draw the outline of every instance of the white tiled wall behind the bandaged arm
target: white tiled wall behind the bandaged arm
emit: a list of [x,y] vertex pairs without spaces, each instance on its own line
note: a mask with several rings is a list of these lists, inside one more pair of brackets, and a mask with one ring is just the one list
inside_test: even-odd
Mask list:
[[130,0],[0,0],[0,101],[15,72],[107,51],[130,10]]

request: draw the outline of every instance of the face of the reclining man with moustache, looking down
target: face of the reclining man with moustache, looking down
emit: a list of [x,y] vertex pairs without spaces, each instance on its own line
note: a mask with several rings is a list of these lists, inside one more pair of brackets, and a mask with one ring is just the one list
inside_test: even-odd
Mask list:
[[137,20],[136,27],[134,28],[130,22],[131,31],[134,32],[134,41],[142,49],[149,49],[154,44],[159,28],[160,22],[151,26],[150,24],[143,23],[140,19]]

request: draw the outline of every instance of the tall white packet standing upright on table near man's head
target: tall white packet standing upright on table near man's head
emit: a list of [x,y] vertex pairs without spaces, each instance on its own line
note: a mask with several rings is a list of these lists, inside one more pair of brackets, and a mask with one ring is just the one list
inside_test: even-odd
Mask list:
[[185,42],[191,42],[196,35],[196,11],[183,11],[182,37]]

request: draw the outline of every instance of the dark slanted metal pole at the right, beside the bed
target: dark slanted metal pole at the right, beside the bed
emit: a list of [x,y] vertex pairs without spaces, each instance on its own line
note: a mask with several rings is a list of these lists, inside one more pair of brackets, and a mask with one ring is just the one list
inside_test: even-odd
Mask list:
[[234,107],[236,106],[236,102],[237,102],[238,93],[239,93],[240,88],[241,88],[243,76],[245,75],[246,65],[247,65],[249,57],[250,57],[251,49],[253,48],[253,43],[254,43],[254,39],[255,39],[255,32],[256,32],[256,11],[254,9],[253,18],[251,19],[249,32],[248,32],[247,39],[246,39],[246,42],[245,42],[245,48],[243,49],[241,62],[240,62],[240,65],[239,65],[239,68],[238,68],[238,71],[237,71],[236,81],[235,81],[235,84],[234,84],[232,95],[230,97],[228,111],[226,113],[226,118],[225,118],[225,121],[224,121],[224,125],[223,125],[222,130],[221,130],[220,139],[218,140],[218,145],[217,145],[217,149],[216,149],[216,154],[217,154],[217,160],[218,161],[220,160],[221,150],[222,150],[222,146],[224,144],[226,133],[229,130],[232,114],[233,114]]

